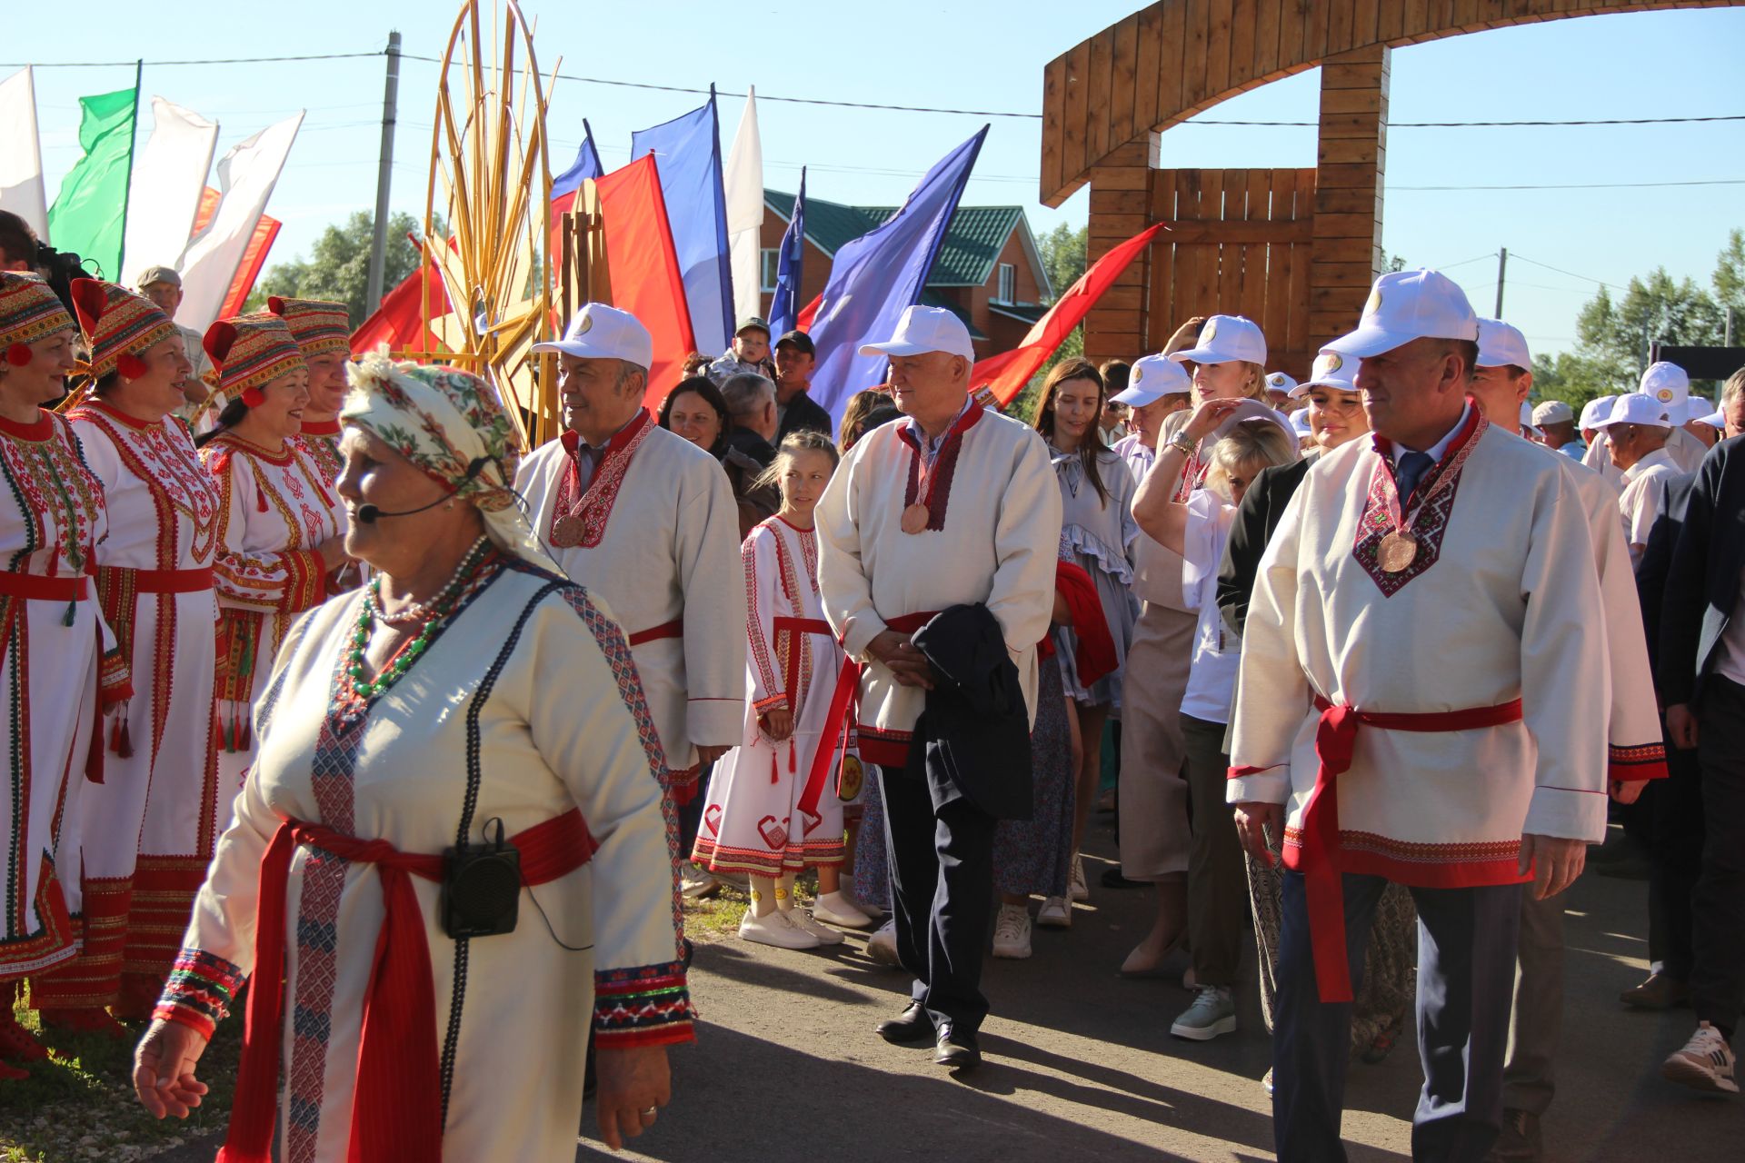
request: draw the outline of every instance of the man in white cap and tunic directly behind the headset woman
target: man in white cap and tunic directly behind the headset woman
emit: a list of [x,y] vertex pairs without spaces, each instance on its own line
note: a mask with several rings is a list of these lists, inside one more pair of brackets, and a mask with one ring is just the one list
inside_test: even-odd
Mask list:
[[[623,622],[667,752],[668,804],[738,743],[745,711],[740,518],[715,459],[642,406],[653,340],[635,316],[586,303],[562,340],[564,438],[515,488],[564,572]],[[677,842],[677,840],[675,840]]]

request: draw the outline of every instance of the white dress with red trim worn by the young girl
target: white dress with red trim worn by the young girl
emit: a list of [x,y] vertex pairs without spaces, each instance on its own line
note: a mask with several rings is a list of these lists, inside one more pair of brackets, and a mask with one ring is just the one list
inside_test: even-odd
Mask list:
[[[827,715],[846,657],[824,621],[815,530],[773,516],[752,528],[740,556],[750,696],[740,746],[708,781],[693,858],[710,868],[780,877],[843,860],[834,771],[820,771],[810,795],[808,776],[820,741],[836,743]],[[773,710],[794,713],[794,734],[780,743],[757,722]]]

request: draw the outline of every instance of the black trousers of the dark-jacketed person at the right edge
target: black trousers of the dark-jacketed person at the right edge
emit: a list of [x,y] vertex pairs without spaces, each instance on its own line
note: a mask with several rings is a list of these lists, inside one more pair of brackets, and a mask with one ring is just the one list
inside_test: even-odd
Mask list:
[[1745,687],[1712,675],[1696,715],[1703,875],[1693,901],[1696,1018],[1729,1039],[1745,1001]]

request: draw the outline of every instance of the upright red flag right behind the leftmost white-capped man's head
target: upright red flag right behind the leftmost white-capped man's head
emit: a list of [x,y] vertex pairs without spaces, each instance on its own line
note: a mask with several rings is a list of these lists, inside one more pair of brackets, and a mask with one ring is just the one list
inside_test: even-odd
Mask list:
[[684,272],[672,244],[654,155],[595,180],[595,188],[600,195],[600,216],[606,220],[612,305],[640,319],[654,338],[654,366],[649,368],[649,389],[644,396],[653,411],[679,382],[684,357],[696,349],[691,309],[684,298]]

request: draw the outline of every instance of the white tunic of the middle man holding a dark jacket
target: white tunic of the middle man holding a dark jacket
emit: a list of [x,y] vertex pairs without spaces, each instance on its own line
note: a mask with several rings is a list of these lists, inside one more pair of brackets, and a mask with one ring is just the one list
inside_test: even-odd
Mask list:
[[1005,631],[1035,720],[1037,643],[1054,612],[1061,537],[1061,490],[1047,445],[1033,429],[988,410],[963,432],[956,453],[949,441],[939,453],[928,528],[902,532],[916,455],[900,436],[907,424],[867,432],[843,457],[817,509],[824,612],[850,657],[867,664],[860,757],[897,767],[925,697],[918,687],[899,685],[867,645],[895,619],[981,602]]

